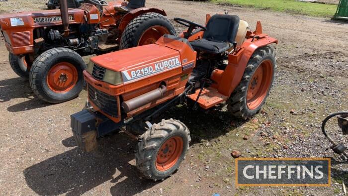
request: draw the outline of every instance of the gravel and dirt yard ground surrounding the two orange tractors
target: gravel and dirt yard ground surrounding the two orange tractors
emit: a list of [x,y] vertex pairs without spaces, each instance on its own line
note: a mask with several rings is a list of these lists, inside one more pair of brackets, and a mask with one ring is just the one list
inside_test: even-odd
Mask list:
[[[43,8],[44,1],[9,0],[0,3],[0,12]],[[223,104],[208,111],[178,106],[165,112],[164,118],[187,125],[192,143],[178,172],[154,183],[140,176],[137,143],[123,133],[101,138],[96,152],[83,153],[72,138],[70,114],[83,108],[86,91],[61,104],[35,98],[28,82],[10,69],[1,39],[0,195],[343,195],[348,167],[335,159],[330,188],[236,188],[230,153],[334,157],[319,127],[330,112],[347,110],[347,23],[207,2],[147,0],[147,6],[165,9],[170,19],[199,23],[206,13],[224,10],[252,29],[261,20],[264,32],[279,39],[275,82],[262,111],[250,121],[234,119]]]

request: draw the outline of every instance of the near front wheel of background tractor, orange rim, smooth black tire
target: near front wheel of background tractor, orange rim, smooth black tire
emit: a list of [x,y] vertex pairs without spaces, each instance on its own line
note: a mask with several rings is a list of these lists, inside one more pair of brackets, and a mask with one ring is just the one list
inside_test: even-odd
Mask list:
[[79,96],[84,88],[82,57],[67,48],[53,48],[36,58],[30,69],[30,86],[35,95],[49,103],[60,103]]

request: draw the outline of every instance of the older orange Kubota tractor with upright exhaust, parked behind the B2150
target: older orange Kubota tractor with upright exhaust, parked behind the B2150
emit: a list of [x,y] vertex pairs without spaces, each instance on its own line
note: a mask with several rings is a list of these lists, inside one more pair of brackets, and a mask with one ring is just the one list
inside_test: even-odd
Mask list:
[[[47,102],[79,95],[87,67],[82,56],[152,44],[164,34],[176,34],[166,12],[144,7],[145,0],[59,1],[60,10],[0,15],[13,71],[28,78],[35,95]],[[68,9],[68,1],[79,7]]]

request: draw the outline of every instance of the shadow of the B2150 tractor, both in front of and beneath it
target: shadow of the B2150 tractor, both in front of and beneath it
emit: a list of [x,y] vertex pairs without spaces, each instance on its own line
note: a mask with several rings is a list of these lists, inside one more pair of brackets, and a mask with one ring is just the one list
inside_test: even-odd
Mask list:
[[[229,111],[221,108],[192,111],[184,106],[174,107],[161,116],[171,117],[187,125],[192,143],[227,133],[233,129],[231,121],[235,120]],[[233,123],[241,125],[244,122]],[[72,137],[62,143],[66,147],[76,146]],[[112,195],[134,195],[156,185],[142,179],[134,166],[136,150],[137,142],[131,141],[124,133],[114,134],[99,139],[96,152],[84,153],[76,147],[35,164],[23,173],[27,185],[39,195],[80,195],[105,182],[114,184],[110,188]]]

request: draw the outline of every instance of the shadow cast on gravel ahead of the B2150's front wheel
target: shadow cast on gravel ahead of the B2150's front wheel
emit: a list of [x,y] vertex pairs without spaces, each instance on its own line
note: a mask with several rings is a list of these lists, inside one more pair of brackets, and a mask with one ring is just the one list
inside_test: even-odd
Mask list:
[[96,152],[84,153],[76,147],[25,169],[27,185],[38,195],[71,196],[108,181],[115,184],[112,195],[134,195],[155,185],[139,179],[136,167],[128,163],[134,159],[136,143],[127,136],[116,134],[99,144]]

